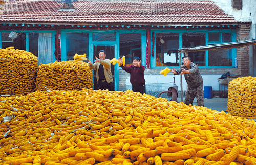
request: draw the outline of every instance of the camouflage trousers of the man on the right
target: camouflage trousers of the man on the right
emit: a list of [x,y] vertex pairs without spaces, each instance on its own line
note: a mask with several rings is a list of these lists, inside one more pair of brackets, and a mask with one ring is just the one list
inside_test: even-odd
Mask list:
[[203,89],[203,84],[200,85],[197,88],[190,88],[190,87],[188,87],[184,103],[186,105],[193,104],[193,100],[194,100],[195,97],[197,98],[197,105],[198,106],[204,106],[204,89]]

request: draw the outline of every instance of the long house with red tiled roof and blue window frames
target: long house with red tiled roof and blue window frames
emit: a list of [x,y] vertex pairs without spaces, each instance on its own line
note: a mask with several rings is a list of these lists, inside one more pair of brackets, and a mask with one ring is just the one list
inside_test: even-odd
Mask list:
[[[170,73],[164,77],[160,70],[179,68],[177,49],[247,40],[250,25],[250,21],[234,19],[210,0],[9,1],[0,14],[0,48],[25,49],[38,56],[40,63],[72,60],[75,53],[86,53],[93,61],[100,49],[106,50],[109,59],[125,55],[127,64],[139,56],[146,66],[146,92],[157,96],[168,89],[174,77]],[[18,37],[10,39],[11,31]],[[204,86],[215,91],[219,90],[218,78],[225,72],[249,75],[249,47],[189,56],[199,65]],[[112,72],[116,90],[131,89],[129,74],[117,65]],[[179,84],[180,76],[175,77]]]

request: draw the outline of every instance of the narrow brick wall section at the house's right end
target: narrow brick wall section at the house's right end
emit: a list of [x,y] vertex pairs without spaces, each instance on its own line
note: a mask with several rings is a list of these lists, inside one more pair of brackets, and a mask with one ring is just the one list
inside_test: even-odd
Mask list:
[[[250,25],[242,24],[237,30],[237,41],[249,39]],[[238,74],[249,76],[249,46],[237,48]]]

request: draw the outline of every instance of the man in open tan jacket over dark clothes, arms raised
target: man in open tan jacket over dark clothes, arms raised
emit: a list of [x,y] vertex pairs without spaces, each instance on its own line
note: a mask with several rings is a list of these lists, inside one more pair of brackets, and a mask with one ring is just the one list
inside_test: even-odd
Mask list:
[[106,52],[104,50],[99,51],[99,59],[95,57],[94,64],[88,60],[89,68],[96,70],[96,78],[99,85],[99,89],[114,91],[114,83],[111,73],[111,63],[109,59],[105,59]]

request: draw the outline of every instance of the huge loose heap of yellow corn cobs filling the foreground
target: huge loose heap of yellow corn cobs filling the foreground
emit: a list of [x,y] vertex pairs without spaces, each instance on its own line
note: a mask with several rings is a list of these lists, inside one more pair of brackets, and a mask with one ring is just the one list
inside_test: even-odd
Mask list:
[[0,98],[4,164],[255,164],[256,123],[132,91]]

